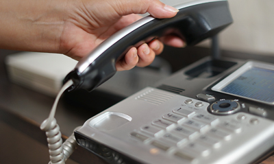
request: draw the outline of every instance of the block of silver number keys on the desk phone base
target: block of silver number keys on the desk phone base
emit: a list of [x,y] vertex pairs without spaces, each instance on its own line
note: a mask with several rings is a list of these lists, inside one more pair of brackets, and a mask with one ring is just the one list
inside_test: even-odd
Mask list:
[[221,148],[223,142],[242,131],[240,124],[222,122],[214,115],[191,111],[182,107],[154,119],[151,125],[140,128],[150,134],[150,140],[132,132],[139,141],[148,141],[155,148],[169,152],[189,163],[196,163],[198,156],[209,156],[212,150]]

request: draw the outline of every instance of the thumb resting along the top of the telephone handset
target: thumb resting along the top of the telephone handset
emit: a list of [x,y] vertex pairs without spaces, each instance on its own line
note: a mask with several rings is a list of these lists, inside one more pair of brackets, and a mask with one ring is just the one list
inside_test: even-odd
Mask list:
[[145,14],[149,12],[158,19],[171,18],[177,14],[179,10],[170,5],[166,5],[159,0],[122,0],[116,3],[120,16],[127,14]]

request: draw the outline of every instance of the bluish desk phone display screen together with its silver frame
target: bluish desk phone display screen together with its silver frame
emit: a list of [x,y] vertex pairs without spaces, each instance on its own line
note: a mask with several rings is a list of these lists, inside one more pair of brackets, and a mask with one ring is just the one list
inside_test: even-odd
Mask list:
[[247,62],[212,90],[274,105],[274,65]]

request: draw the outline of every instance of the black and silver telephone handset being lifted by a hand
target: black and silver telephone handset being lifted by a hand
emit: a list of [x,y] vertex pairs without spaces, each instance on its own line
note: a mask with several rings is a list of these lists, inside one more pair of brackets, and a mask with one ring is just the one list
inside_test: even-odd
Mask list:
[[184,1],[175,8],[179,12],[171,19],[146,16],[101,43],[66,76],[64,81],[73,80],[70,91],[80,88],[92,91],[110,79],[116,73],[116,61],[132,46],[138,47],[166,34],[175,34],[191,46],[232,23],[226,0]]

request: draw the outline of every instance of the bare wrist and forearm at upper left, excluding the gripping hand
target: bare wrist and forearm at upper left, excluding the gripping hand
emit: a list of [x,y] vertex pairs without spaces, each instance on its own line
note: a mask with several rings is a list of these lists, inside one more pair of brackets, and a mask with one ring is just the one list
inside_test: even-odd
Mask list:
[[0,48],[60,51],[66,0],[3,0],[1,3]]

